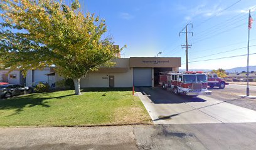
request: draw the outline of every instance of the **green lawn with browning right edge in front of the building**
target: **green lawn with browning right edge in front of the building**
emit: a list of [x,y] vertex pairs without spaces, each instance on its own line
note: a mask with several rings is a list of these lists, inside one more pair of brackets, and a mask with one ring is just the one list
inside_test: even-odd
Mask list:
[[131,89],[83,89],[0,99],[0,126],[97,126],[151,123]]

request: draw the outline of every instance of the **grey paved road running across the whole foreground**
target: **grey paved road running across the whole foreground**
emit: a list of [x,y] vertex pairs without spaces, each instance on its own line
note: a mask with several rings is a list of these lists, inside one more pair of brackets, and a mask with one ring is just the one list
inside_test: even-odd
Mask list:
[[255,149],[256,123],[0,128],[0,149]]

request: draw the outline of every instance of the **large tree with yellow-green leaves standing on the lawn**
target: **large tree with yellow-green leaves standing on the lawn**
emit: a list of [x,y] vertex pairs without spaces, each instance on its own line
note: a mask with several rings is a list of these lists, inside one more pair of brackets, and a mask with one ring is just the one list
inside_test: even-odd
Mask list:
[[56,72],[71,78],[75,94],[80,78],[100,66],[112,66],[115,48],[104,19],[80,11],[78,0],[67,6],[61,1],[0,0],[0,64],[4,68],[42,69],[56,66]]

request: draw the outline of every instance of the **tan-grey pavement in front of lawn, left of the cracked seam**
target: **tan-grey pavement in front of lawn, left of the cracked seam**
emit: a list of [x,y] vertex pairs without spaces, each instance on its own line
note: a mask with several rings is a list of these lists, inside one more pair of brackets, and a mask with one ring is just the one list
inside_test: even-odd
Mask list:
[[0,128],[0,149],[137,149],[133,129]]

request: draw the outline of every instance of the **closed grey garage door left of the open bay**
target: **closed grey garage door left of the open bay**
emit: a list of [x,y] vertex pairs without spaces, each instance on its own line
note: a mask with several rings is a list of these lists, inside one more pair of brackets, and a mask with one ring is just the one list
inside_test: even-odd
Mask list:
[[151,68],[134,68],[134,86],[152,86]]

